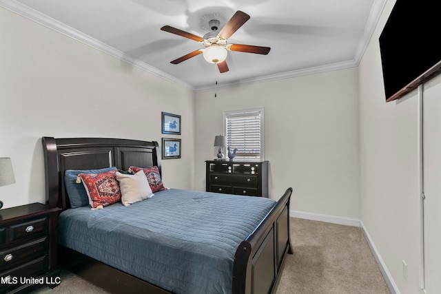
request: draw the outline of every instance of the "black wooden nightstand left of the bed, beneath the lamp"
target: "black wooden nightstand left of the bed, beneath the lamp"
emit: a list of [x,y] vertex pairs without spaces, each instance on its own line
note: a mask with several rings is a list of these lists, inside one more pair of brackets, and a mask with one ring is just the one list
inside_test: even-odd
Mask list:
[[0,293],[57,286],[60,209],[32,203],[0,210]]

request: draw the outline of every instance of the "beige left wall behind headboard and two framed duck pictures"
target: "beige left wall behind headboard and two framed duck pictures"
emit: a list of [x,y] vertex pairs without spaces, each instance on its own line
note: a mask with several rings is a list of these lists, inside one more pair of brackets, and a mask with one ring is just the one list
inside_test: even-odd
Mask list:
[[[163,160],[166,186],[193,182],[194,93],[0,8],[0,156],[17,182],[6,207],[45,201],[41,136],[158,140],[161,112],[183,120],[181,159]],[[189,172],[183,172],[189,171]]]

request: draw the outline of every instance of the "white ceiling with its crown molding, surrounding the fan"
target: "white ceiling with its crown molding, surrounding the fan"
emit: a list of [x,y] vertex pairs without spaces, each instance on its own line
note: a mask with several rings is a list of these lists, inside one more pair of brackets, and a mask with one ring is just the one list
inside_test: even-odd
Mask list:
[[[48,25],[133,66],[192,90],[238,85],[358,65],[386,0],[0,0],[0,6]],[[203,45],[160,30],[198,36],[236,10],[251,16],[229,43],[271,47],[268,55],[228,52],[220,74],[202,54],[170,61]],[[220,30],[219,28],[219,30]]]

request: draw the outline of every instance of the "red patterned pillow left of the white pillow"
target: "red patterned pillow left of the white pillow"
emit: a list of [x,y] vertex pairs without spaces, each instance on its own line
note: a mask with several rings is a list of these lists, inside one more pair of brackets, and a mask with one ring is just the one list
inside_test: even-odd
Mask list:
[[116,169],[99,174],[79,174],[85,191],[88,192],[89,204],[96,208],[121,201],[119,182],[116,180]]

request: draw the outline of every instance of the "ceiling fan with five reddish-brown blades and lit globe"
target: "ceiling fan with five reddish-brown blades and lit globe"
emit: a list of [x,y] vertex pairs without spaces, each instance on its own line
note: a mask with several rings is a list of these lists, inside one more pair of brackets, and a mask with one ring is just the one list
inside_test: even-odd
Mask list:
[[218,32],[218,25],[220,24],[220,21],[213,19],[209,21],[209,27],[212,29],[212,32],[208,32],[203,37],[173,28],[170,25],[164,25],[161,30],[197,41],[202,43],[205,47],[181,56],[174,61],[170,61],[170,63],[178,64],[194,56],[203,54],[205,60],[209,63],[216,63],[219,71],[222,73],[228,72],[227,61],[225,60],[227,58],[227,51],[239,51],[264,55],[268,54],[269,50],[271,49],[269,47],[227,43],[227,39],[232,36],[232,34],[234,34],[234,32],[236,32],[236,30],[238,30],[244,23],[246,23],[249,18],[250,17],[248,14],[238,10],[224,25],[220,32]]

